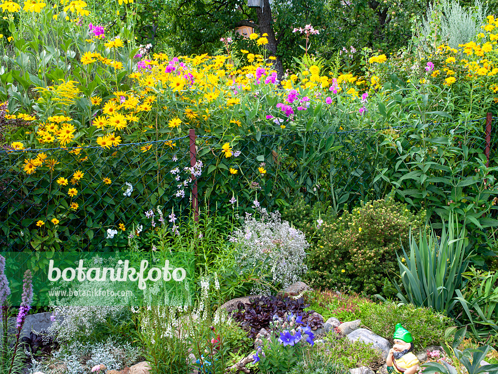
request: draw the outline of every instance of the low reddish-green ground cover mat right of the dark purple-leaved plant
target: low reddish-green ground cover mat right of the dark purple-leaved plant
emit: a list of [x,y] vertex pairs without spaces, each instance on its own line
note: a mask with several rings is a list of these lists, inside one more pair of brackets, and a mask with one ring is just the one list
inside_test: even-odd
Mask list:
[[312,291],[305,295],[309,310],[314,310],[327,321],[335,317],[341,322],[354,321],[361,318],[361,306],[371,303],[369,299],[360,297],[358,294],[348,295],[336,291]]

